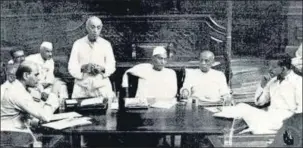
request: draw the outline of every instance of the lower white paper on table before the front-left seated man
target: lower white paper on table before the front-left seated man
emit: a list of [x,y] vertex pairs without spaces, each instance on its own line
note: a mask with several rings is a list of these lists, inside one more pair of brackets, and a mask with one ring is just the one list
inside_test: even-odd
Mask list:
[[88,118],[88,117],[63,119],[63,120],[59,120],[59,121],[55,121],[55,122],[42,124],[42,126],[50,127],[50,128],[57,129],[57,130],[62,130],[62,129],[77,126],[77,125],[92,124],[92,122],[89,121],[89,119],[90,118]]

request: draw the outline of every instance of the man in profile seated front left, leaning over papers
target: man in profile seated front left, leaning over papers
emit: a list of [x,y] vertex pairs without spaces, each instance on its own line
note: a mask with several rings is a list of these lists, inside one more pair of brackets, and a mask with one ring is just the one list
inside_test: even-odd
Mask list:
[[37,87],[38,81],[38,65],[22,62],[16,71],[15,82],[6,90],[1,101],[1,131],[30,131],[28,121],[31,116],[50,121],[58,108],[58,98],[50,94],[47,101],[36,102],[28,89]]

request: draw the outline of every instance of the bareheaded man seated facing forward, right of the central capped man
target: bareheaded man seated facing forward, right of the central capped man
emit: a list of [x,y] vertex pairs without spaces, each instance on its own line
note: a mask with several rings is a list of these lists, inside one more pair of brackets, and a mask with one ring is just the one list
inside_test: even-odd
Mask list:
[[200,54],[200,69],[186,69],[181,98],[197,101],[219,102],[230,98],[230,90],[223,72],[212,69],[215,55],[209,50]]

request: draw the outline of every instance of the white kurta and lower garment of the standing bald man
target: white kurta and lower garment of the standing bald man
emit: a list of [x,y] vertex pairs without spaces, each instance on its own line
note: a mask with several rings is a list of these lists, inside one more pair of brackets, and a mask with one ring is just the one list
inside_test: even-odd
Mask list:
[[[105,68],[104,74],[90,76],[81,72],[84,64],[98,64]],[[99,37],[95,43],[91,43],[85,36],[77,40],[72,48],[68,71],[75,78],[72,98],[114,96],[109,76],[116,70],[115,57],[111,44]]]

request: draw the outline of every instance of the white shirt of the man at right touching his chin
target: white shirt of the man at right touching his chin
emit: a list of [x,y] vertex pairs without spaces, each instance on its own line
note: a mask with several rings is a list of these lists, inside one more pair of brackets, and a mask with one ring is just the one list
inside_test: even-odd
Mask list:
[[270,101],[268,111],[286,110],[290,112],[302,112],[302,77],[293,71],[280,83],[277,77],[272,78],[265,86],[257,105],[263,105]]

